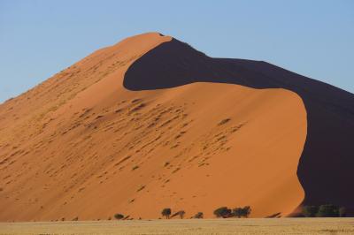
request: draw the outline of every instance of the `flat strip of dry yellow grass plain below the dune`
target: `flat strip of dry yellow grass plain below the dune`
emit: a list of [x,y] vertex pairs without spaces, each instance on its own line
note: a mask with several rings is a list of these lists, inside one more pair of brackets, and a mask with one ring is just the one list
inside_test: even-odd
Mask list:
[[1,223],[0,234],[354,234],[354,218]]

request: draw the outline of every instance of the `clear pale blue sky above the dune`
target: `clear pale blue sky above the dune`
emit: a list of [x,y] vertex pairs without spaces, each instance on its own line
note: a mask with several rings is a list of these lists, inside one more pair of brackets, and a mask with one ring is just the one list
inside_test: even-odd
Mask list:
[[144,32],[354,93],[354,1],[0,1],[0,102]]

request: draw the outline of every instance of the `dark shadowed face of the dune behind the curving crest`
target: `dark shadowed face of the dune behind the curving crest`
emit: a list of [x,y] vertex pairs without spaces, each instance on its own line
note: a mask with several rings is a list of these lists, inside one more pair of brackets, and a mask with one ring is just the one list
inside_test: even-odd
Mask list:
[[173,40],[140,58],[127,71],[124,86],[146,90],[193,82],[219,82],[295,92],[307,111],[307,139],[297,175],[304,204],[334,203],[354,208],[354,95],[273,64],[206,57]]

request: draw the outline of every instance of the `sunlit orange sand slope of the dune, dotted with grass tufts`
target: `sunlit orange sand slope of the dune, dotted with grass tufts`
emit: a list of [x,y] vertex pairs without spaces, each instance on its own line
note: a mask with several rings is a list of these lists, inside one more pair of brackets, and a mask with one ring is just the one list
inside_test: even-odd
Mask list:
[[165,207],[212,217],[244,205],[287,216],[304,200],[296,171],[307,120],[296,93],[123,86],[132,63],[171,41],[127,38],[0,105],[1,221],[158,218]]

